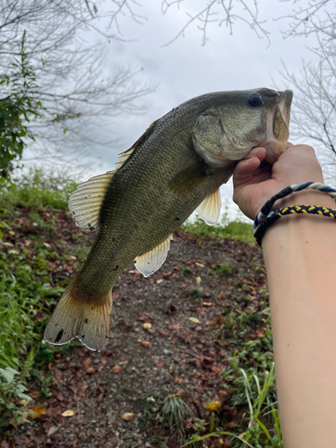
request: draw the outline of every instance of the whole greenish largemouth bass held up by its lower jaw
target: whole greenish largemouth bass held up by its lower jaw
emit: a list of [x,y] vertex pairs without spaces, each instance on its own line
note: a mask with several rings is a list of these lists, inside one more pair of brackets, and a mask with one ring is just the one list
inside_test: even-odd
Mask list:
[[135,260],[143,275],[165,261],[172,234],[197,209],[220,216],[220,185],[255,146],[273,163],[289,138],[290,90],[215,92],[190,99],[155,121],[116,170],[92,177],[70,196],[73,220],[99,228],[81,271],[65,289],[45,340],[78,338],[92,350],[108,342],[112,287]]

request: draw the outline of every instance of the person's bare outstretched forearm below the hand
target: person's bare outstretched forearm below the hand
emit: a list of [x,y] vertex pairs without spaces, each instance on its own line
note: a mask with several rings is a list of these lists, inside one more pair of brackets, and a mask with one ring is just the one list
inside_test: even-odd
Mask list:
[[[335,208],[317,192],[286,202]],[[336,221],[281,217],[263,237],[285,448],[336,446]]]

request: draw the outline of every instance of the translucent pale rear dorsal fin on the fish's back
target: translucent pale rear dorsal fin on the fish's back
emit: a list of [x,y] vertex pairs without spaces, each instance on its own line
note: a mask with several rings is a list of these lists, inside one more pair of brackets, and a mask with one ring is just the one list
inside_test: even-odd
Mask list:
[[116,170],[91,177],[71,194],[69,211],[77,226],[85,232],[99,228],[100,209],[115,173]]

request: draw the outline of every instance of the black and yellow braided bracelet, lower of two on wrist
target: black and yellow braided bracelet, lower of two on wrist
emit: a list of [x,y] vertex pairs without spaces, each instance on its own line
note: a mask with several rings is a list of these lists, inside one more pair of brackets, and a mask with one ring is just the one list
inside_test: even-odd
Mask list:
[[263,219],[254,229],[254,237],[258,245],[262,246],[263,235],[266,229],[269,228],[273,222],[279,220],[281,216],[300,213],[329,216],[336,220],[335,210],[328,209],[327,207],[317,207],[316,205],[293,205],[283,209],[275,209],[270,211],[268,215],[263,216]]

